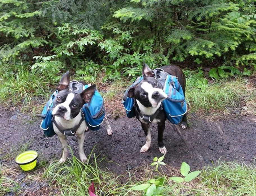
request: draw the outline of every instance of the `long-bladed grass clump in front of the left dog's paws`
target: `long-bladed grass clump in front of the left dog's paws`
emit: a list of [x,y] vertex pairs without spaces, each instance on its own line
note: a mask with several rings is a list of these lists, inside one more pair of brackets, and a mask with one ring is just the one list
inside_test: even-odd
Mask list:
[[91,153],[88,159],[91,159],[91,164],[84,164],[74,156],[63,165],[52,162],[43,176],[50,182],[56,181],[62,195],[84,195],[92,181],[96,184],[97,195],[125,195],[129,185],[120,185],[121,176],[100,170],[98,164],[101,160],[97,160],[95,154]]

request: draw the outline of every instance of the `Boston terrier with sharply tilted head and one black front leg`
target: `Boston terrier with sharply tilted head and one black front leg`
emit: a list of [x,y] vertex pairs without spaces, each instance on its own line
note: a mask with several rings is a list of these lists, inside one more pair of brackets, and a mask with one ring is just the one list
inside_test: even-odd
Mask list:
[[[186,78],[182,69],[176,65],[165,65],[161,67],[165,72],[170,75],[178,77],[178,81],[182,86],[182,90],[185,96]],[[128,96],[134,98],[134,106],[136,118],[141,122],[141,126],[146,134],[146,143],[141,147],[140,152],[147,152],[151,143],[150,124],[143,121],[140,114],[153,115],[158,113],[152,123],[157,123],[158,131],[158,146],[159,151],[166,154],[167,150],[163,143],[163,133],[165,128],[166,115],[164,110],[160,110],[161,102],[167,98],[167,95],[163,91],[163,86],[159,81],[154,78],[154,72],[144,63],[142,68],[143,80],[128,91]],[[186,114],[182,118],[181,126],[186,129],[187,117]]]

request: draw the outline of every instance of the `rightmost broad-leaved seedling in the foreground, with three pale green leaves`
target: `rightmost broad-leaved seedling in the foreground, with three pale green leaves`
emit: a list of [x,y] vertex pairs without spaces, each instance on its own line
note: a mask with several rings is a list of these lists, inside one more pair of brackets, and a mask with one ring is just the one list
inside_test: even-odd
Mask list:
[[190,166],[187,163],[182,162],[181,167],[180,167],[180,173],[182,176],[184,176],[184,178],[178,177],[178,176],[173,176],[170,178],[170,180],[175,181],[177,183],[181,183],[183,181],[190,182],[191,180],[195,179],[196,176],[198,176],[198,174],[201,172],[201,170],[193,171],[190,173],[189,173],[189,171],[190,171]]

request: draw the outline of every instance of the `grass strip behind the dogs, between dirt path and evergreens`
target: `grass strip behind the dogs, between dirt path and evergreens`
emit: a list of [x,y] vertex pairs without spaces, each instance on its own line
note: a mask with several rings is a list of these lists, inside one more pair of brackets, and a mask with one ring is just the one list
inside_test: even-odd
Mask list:
[[[213,81],[211,77],[205,76],[207,73],[201,68],[197,70],[184,69],[183,71],[186,75],[186,100],[189,112],[225,111],[228,108],[241,108],[248,103],[248,110],[255,114],[253,111],[256,106],[253,100],[256,99],[256,88],[253,83],[250,84],[249,78],[239,75]],[[33,101],[38,98],[44,104],[51,92],[55,91],[57,84],[49,82],[48,78],[40,73],[29,71],[22,64],[0,68],[0,76],[1,103],[21,104],[21,107],[24,108],[31,106]],[[86,74],[74,73],[72,79],[96,83],[105,99],[115,101],[120,98],[117,95],[121,95],[134,80],[122,77],[104,84],[105,76],[105,73],[99,69],[95,70],[90,77]],[[56,77],[59,79],[60,75],[56,75]]]

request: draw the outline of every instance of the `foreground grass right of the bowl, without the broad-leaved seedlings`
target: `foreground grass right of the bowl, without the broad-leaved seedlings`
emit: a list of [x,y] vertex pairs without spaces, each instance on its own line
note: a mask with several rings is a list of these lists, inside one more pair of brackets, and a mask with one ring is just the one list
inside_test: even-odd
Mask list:
[[256,195],[256,168],[246,164],[219,163],[215,167],[205,167],[189,183],[175,183],[169,178],[180,175],[179,169],[170,166],[166,168],[171,168],[168,171],[172,173],[161,169],[155,171],[153,166],[146,166],[140,168],[141,174],[134,176],[136,172],[133,171],[127,171],[123,175],[103,171],[98,167],[100,160],[94,154],[90,162],[91,164],[83,164],[76,157],[64,165],[53,162],[46,169],[44,178],[49,183],[56,181],[55,185],[61,188],[61,195],[83,195],[88,192],[92,181],[97,195],[143,195],[143,191],[134,191],[131,187],[148,183],[151,178],[163,179],[163,192],[160,195]]

